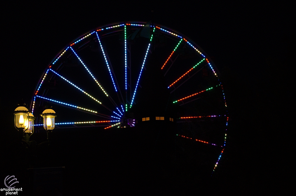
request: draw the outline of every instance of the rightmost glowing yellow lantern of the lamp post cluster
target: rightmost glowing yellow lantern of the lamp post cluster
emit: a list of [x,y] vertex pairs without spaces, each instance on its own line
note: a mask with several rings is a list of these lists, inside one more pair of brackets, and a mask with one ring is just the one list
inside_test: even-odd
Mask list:
[[47,140],[50,140],[52,130],[54,129],[54,118],[57,116],[55,111],[50,108],[52,108],[52,105],[48,103],[45,106],[45,110],[40,114],[43,117],[43,127],[47,132]]

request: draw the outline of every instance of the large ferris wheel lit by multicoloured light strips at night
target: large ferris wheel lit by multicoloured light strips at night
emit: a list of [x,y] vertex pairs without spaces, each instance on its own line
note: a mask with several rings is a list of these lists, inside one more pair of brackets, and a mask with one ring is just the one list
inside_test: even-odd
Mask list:
[[[38,116],[45,102],[55,104],[56,129],[171,123],[178,138],[214,147],[219,161],[228,123],[219,75],[202,48],[176,30],[117,22],[65,46],[42,73],[30,109]],[[37,117],[35,128],[42,122]]]

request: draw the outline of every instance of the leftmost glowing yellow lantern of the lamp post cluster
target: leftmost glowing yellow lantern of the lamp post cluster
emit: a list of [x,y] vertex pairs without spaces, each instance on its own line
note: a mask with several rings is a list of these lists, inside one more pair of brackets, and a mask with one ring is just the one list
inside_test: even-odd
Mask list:
[[27,131],[29,128],[29,111],[24,106],[15,109],[15,128],[17,130]]

